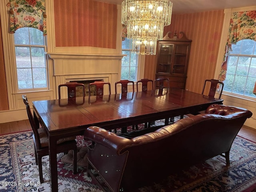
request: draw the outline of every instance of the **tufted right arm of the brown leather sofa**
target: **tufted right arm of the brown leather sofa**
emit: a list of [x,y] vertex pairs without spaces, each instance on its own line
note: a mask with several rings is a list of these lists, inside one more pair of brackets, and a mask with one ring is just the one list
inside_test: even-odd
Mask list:
[[239,108],[239,107],[233,107],[233,106],[225,106],[225,105],[219,105],[219,104],[212,104],[206,109],[206,114],[218,114],[218,115],[230,115],[234,113],[240,113],[240,112],[246,112],[247,118],[250,118],[252,116],[252,112],[250,112],[247,109]]

